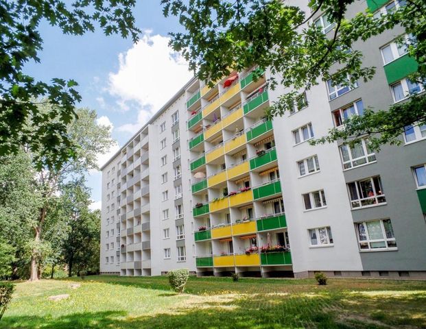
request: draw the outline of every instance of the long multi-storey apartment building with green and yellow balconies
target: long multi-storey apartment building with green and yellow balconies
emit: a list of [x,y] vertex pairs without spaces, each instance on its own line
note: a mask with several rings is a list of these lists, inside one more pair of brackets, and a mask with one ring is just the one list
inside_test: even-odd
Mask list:
[[[348,16],[398,5],[359,1]],[[331,34],[327,22],[318,13],[311,23]],[[423,93],[394,41],[404,33],[353,46],[377,67],[372,81],[319,82],[273,121],[265,109],[286,90],[268,90],[268,71],[188,82],[102,168],[102,273],[425,278],[426,127],[406,127],[403,145],[380,152],[367,140],[308,143],[368,106]]]

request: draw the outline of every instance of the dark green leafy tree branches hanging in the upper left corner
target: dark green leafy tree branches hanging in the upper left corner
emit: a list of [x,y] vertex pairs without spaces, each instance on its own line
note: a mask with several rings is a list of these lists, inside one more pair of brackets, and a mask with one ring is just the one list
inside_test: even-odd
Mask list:
[[[39,166],[60,167],[78,156],[67,126],[76,118],[81,100],[74,80],[54,78],[36,81],[25,73],[29,61],[40,62],[43,39],[41,21],[59,27],[64,34],[80,36],[100,27],[106,36],[120,34],[138,40],[132,8],[136,0],[0,0],[0,156],[16,154],[25,145]],[[49,112],[40,112],[40,99]],[[32,126],[27,125],[31,118]],[[51,120],[55,118],[56,120]],[[45,149],[50,156],[41,156]]]

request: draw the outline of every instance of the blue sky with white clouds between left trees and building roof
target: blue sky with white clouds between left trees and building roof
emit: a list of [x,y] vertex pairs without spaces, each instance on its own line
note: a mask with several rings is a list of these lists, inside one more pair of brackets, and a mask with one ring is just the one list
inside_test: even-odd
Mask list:
[[[99,154],[102,166],[128,138],[139,130],[192,76],[187,63],[168,47],[168,32],[181,29],[175,17],[165,18],[160,0],[138,0],[136,25],[143,31],[139,42],[121,36],[104,36],[102,30],[84,36],[64,35],[47,23],[40,27],[44,40],[40,63],[25,70],[36,79],[73,79],[82,96],[78,107],[97,112],[99,125],[110,125],[117,145]],[[101,206],[100,171],[91,171],[91,208]]]

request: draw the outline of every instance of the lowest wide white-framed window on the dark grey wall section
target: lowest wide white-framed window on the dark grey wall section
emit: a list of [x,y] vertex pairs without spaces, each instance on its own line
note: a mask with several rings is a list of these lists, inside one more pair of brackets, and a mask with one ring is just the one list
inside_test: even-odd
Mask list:
[[390,219],[356,223],[355,229],[357,231],[360,250],[397,248],[397,241],[395,241],[394,230]]

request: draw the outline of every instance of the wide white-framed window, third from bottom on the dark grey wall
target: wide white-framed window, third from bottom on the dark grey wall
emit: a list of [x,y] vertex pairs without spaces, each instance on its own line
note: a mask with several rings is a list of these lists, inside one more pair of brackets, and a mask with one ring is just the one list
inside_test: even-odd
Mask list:
[[351,169],[376,161],[376,155],[368,148],[368,141],[366,139],[362,139],[351,146],[344,144],[339,148],[343,169]]

